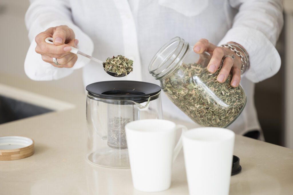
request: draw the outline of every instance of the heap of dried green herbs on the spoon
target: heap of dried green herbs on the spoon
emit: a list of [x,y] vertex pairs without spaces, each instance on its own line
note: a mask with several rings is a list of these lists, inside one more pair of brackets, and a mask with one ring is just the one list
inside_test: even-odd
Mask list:
[[118,55],[116,57],[107,58],[103,66],[106,70],[116,73],[117,75],[121,75],[122,73],[127,75],[127,73],[133,70],[133,61],[122,55]]

